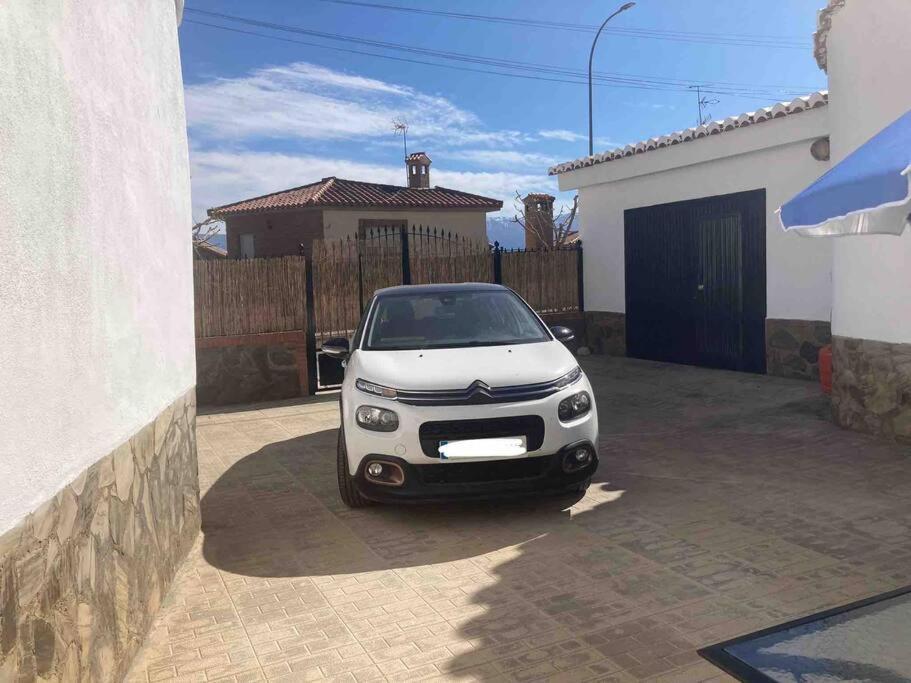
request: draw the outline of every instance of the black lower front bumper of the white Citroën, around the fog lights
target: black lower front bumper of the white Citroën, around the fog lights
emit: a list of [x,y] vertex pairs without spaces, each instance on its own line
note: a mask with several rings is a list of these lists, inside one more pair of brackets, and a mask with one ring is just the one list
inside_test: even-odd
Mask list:
[[[591,451],[591,461],[575,471],[564,471],[564,460],[579,447]],[[398,466],[404,482],[390,485],[371,481],[365,470],[373,462]],[[509,460],[414,464],[397,456],[369,454],[361,460],[354,483],[364,498],[380,503],[484,500],[577,490],[597,469],[594,444],[580,441],[551,455]]]

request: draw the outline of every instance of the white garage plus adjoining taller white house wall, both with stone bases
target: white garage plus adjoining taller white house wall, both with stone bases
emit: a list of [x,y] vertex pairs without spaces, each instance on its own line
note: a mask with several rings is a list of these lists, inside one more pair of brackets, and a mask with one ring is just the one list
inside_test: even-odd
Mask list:
[[908,26],[908,0],[829,0],[814,39],[830,95],[551,169],[580,194],[596,351],[812,377],[831,336],[838,423],[911,440],[911,216],[801,237],[775,215],[911,111]]

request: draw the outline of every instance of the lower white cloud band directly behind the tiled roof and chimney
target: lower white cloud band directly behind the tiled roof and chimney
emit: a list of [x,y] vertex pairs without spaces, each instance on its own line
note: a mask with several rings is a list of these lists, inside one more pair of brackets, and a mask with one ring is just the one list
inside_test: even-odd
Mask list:
[[[277,192],[315,182],[327,176],[403,185],[404,165],[371,164],[347,159],[273,152],[234,152],[193,149],[193,215],[247,197]],[[475,172],[431,169],[430,181],[452,189],[503,201],[503,215],[513,214],[516,191],[556,192],[556,182],[543,174]]]

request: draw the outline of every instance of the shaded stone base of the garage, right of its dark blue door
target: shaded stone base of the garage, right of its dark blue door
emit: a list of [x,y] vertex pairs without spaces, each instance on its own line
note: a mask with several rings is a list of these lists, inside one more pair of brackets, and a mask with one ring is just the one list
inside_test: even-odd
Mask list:
[[827,321],[767,318],[765,329],[768,374],[819,379],[819,349],[832,341]]

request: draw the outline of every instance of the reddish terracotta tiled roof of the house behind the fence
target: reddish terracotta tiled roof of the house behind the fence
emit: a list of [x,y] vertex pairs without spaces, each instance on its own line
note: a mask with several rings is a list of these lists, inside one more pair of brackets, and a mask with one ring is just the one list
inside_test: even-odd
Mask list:
[[498,211],[503,202],[445,187],[426,189],[364,183],[342,178],[323,178],[319,182],[244,199],[209,209],[210,216],[233,216],[280,209],[319,207],[384,209],[479,209]]

